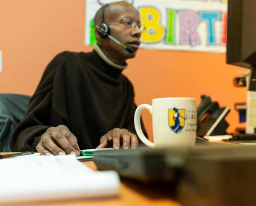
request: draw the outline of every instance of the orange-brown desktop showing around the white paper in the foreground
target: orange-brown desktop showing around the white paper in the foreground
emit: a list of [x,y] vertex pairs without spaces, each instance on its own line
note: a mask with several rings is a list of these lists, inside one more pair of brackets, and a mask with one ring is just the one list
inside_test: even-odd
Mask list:
[[[7,153],[0,153],[2,155]],[[0,160],[1,161],[1,160]],[[93,161],[82,162],[86,166],[97,170],[96,165]],[[171,194],[170,194],[171,192]],[[135,182],[122,180],[119,187],[119,196],[116,198],[109,199],[97,199],[97,200],[67,200],[67,201],[49,201],[49,202],[34,202],[34,203],[24,203],[24,204],[8,204],[8,206],[13,205],[26,205],[26,206],[84,206],[84,205],[103,205],[103,206],[115,206],[115,205],[140,205],[140,206],[181,206],[179,203],[171,199],[172,192],[167,190],[167,188],[158,187],[148,187],[146,185],[136,184]]]

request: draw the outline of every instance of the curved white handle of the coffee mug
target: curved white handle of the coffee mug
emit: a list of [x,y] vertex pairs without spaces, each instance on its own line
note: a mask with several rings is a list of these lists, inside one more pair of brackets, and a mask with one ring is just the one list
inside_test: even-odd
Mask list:
[[141,112],[143,109],[147,109],[150,114],[152,115],[152,106],[151,105],[147,105],[147,104],[143,104],[140,105],[139,107],[137,107],[135,114],[134,114],[134,125],[135,125],[135,130],[139,136],[139,138],[141,139],[141,141],[148,147],[155,147],[155,144],[153,142],[150,142],[145,135],[143,134],[143,131],[141,129]]

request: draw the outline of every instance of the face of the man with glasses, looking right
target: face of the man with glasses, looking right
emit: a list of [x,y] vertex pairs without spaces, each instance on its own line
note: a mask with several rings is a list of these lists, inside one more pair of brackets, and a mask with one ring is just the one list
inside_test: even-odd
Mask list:
[[[100,42],[100,45],[109,52],[116,55],[119,59],[129,59],[135,57],[140,45],[141,30],[139,12],[132,6],[120,7],[118,12],[106,16],[105,23],[110,27],[110,34],[122,44],[134,49],[130,54],[125,48],[118,45],[113,40],[106,38]],[[132,25],[134,27],[132,27]]]

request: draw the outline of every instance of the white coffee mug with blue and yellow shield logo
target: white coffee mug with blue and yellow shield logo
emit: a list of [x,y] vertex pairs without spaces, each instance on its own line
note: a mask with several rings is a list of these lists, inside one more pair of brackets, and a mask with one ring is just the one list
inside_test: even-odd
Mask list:
[[[152,114],[154,143],[141,129],[141,112]],[[141,141],[148,147],[193,146],[197,132],[197,102],[194,98],[158,98],[152,106],[143,104],[135,111],[134,124]]]

